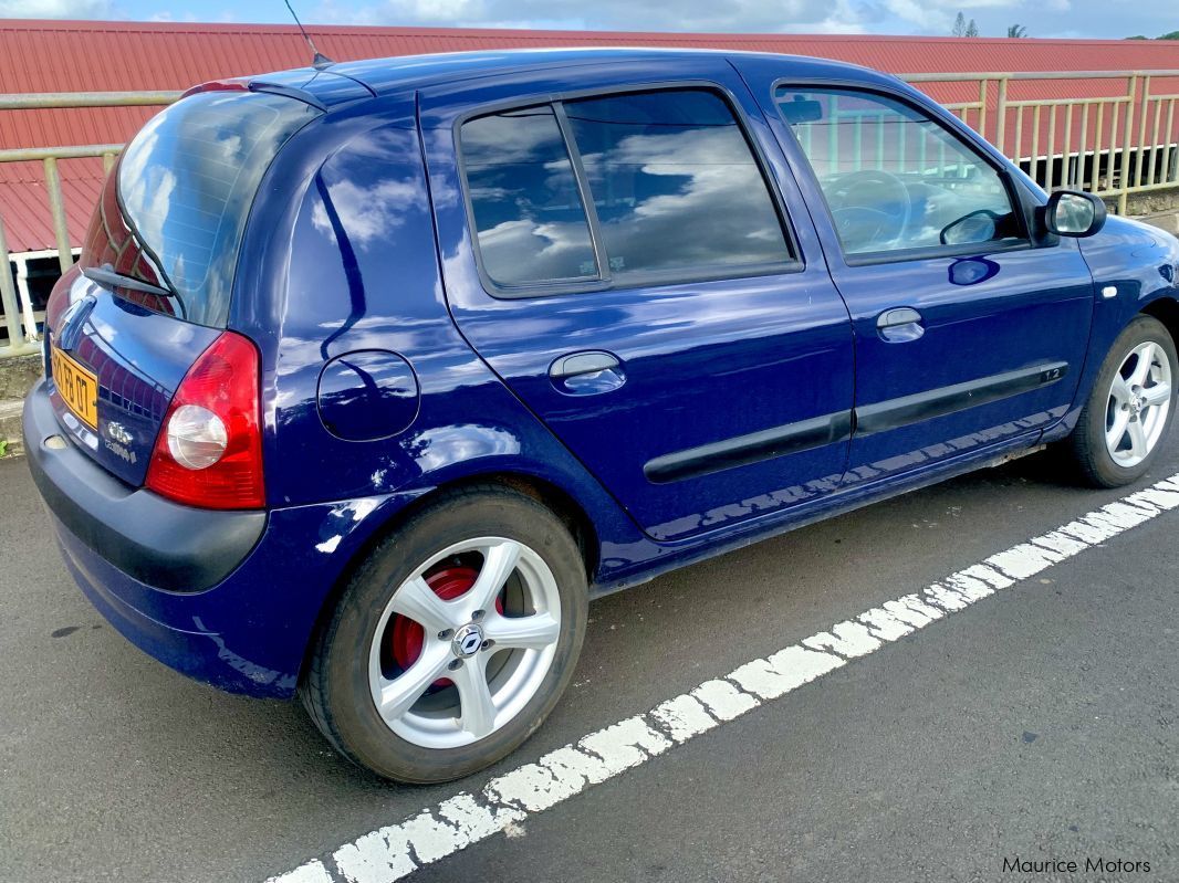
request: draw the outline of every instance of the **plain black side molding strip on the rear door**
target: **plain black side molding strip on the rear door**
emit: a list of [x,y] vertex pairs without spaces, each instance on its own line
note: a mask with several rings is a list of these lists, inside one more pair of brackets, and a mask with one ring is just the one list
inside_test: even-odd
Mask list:
[[746,436],[736,436],[724,442],[665,453],[647,460],[643,473],[653,484],[667,484],[822,447],[835,442],[845,442],[849,438],[851,438],[851,411],[839,411]]

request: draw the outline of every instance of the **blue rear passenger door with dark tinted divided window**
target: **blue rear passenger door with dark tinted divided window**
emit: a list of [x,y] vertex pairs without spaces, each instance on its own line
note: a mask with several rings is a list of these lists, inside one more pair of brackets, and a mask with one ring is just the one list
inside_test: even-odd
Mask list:
[[459,328],[657,539],[830,492],[850,319],[747,92],[719,59],[577,73],[422,94]]

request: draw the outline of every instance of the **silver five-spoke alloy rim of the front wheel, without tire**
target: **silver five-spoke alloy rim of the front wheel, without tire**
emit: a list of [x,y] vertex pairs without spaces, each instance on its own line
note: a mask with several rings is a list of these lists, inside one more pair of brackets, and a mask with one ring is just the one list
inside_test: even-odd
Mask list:
[[1171,411],[1171,361],[1147,340],[1135,346],[1113,377],[1106,407],[1106,447],[1124,469],[1154,450]]

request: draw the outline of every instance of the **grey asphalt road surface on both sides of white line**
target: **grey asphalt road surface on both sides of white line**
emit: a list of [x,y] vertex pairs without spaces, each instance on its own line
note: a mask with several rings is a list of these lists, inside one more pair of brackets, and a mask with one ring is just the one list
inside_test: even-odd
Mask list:
[[[24,463],[0,463],[0,879],[261,883],[1126,493],[1050,472],[1028,458],[602,599],[529,743],[399,788],[297,705],[127,644],[72,585]],[[410,879],[1179,881],[1177,535],[1172,510]]]

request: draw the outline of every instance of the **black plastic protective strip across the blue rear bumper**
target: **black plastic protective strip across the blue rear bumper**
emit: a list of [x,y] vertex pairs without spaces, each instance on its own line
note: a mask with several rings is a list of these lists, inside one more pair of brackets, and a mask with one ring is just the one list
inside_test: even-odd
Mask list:
[[[266,513],[193,509],[129,487],[66,440],[42,378],[25,399],[25,451],[50,511],[130,577],[167,591],[216,585],[262,537]],[[48,438],[62,439],[48,447]]]

